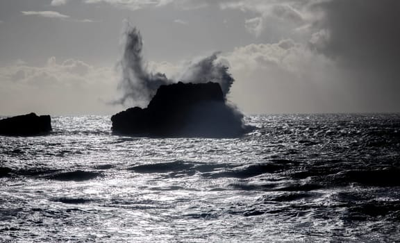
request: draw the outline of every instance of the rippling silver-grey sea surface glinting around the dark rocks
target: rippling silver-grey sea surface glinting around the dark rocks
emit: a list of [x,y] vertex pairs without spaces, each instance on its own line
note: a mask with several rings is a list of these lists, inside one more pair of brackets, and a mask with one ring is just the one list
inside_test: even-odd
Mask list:
[[0,136],[0,242],[400,242],[400,115],[264,115],[235,139],[52,117]]

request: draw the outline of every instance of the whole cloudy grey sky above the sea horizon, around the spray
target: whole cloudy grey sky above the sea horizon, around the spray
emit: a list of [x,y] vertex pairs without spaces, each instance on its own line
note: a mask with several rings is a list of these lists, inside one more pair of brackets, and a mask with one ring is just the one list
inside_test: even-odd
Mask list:
[[[245,114],[400,112],[398,0],[1,0],[0,115],[112,115],[124,25],[149,72],[219,51]],[[129,104],[134,106],[135,104]]]

